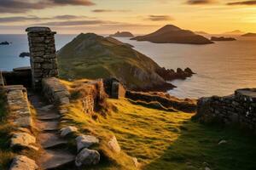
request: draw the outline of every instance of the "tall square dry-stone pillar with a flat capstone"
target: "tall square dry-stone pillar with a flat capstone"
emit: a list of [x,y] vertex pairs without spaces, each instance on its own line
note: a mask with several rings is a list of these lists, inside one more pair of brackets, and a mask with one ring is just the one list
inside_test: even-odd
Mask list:
[[55,32],[48,27],[26,29],[32,67],[32,87],[41,88],[44,77],[58,77]]

